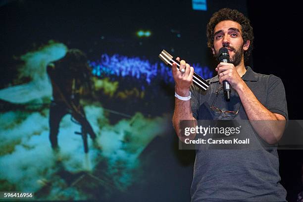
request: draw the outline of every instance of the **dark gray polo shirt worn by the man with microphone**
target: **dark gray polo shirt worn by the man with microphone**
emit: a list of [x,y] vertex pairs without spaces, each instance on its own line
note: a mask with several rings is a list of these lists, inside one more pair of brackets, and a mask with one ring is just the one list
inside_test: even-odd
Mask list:
[[[280,78],[253,72],[251,67],[242,79],[255,97],[273,113],[288,120],[285,90]],[[208,79],[206,92],[192,86],[192,111],[197,120],[231,119],[211,111],[215,92],[222,87],[218,76]],[[214,106],[237,111],[233,119],[248,119],[237,92],[232,89],[226,102],[219,91]],[[279,183],[279,158],[276,149],[265,150],[196,150],[192,202],[285,202],[286,190]]]

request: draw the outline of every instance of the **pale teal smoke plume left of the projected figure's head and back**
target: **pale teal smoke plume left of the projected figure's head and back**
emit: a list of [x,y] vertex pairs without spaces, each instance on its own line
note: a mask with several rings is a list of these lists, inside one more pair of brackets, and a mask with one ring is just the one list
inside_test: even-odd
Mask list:
[[51,85],[47,76],[46,66],[50,61],[63,57],[67,47],[61,43],[50,41],[39,50],[20,56],[24,61],[19,71],[19,79],[31,78],[29,83],[8,87],[0,90],[0,99],[12,103],[25,103],[51,96]]

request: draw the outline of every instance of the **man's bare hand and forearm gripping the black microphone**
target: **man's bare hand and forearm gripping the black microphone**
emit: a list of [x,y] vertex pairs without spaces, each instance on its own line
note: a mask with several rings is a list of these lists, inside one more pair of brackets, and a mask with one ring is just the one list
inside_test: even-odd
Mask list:
[[272,113],[258,101],[233,64],[221,62],[216,71],[218,71],[220,83],[227,80],[237,91],[253,129],[258,135],[268,144],[278,142],[283,135],[286,118],[281,114]]

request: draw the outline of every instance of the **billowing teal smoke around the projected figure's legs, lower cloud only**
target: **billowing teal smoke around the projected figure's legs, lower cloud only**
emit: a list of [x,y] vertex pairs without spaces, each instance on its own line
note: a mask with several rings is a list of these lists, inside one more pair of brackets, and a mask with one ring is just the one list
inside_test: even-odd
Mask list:
[[[33,112],[23,116],[21,112],[13,111],[0,114],[1,122],[5,123],[0,125],[0,138],[3,140],[0,146],[4,149],[0,156],[0,180],[16,187],[14,191],[30,192],[36,192],[50,183],[52,190],[49,196],[45,196],[46,199],[55,199],[60,195],[61,200],[66,200],[70,199],[67,197],[70,197],[68,192],[76,191],[57,175],[58,170],[92,172],[100,160],[105,159],[108,163],[106,172],[112,176],[116,188],[124,190],[130,186],[136,180],[134,170],[140,164],[138,155],[156,135],[165,130],[159,127],[162,118],[147,119],[137,113],[133,118],[122,119],[115,125],[100,125],[108,123],[103,108],[90,105],[84,109],[101,147],[94,147],[89,139],[88,155],[84,153],[81,136],[74,134],[74,131],[80,131],[80,126],[71,122],[70,115],[64,116],[60,123],[60,152],[55,153],[50,148],[48,115],[43,115],[47,112]],[[13,149],[11,144],[14,145]],[[58,162],[61,166],[58,166]],[[4,188],[0,185],[0,189]],[[77,199],[76,196],[78,199],[84,197],[80,193],[74,196],[72,199]]]

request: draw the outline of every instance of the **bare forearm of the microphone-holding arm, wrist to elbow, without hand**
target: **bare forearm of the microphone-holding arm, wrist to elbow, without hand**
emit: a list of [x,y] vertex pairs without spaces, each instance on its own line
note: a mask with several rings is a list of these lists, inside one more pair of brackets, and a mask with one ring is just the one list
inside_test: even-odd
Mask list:
[[285,119],[279,120],[254,96],[251,89],[243,82],[237,89],[245,112],[251,121],[253,129],[268,144],[276,143],[285,129]]

